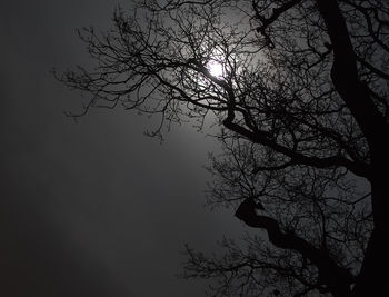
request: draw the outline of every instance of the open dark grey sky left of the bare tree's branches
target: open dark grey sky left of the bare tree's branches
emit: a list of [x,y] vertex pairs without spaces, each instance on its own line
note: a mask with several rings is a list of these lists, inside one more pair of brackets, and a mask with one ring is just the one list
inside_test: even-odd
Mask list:
[[203,208],[210,137],[176,126],[160,145],[120,107],[64,116],[82,101],[50,69],[90,63],[74,29],[107,29],[116,3],[0,2],[0,296],[205,296],[174,276],[184,244],[247,230]]

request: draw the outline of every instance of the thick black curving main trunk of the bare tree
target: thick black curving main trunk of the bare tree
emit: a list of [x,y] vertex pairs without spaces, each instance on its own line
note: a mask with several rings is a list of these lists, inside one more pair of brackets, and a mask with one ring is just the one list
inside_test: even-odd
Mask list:
[[383,297],[385,271],[388,269],[388,185],[389,169],[388,125],[371,100],[357,71],[356,55],[337,0],[317,0],[333,46],[332,82],[341,96],[370,147],[371,156],[371,202],[375,230],[368,242],[362,267],[353,288],[353,296]]

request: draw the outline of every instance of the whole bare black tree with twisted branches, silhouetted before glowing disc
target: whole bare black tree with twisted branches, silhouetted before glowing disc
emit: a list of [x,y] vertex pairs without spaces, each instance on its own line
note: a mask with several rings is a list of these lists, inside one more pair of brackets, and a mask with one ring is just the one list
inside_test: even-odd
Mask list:
[[216,278],[213,296],[385,296],[388,2],[144,0],[80,37],[97,63],[58,76],[88,97],[71,116],[120,103],[159,116],[152,136],[221,128],[209,202],[266,232],[188,247],[184,277]]

